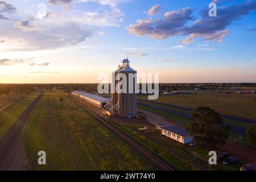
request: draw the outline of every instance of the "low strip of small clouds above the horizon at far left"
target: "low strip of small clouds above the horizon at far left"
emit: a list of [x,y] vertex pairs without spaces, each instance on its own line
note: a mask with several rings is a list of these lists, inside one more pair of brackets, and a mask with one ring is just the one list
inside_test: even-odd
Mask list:
[[35,57],[29,57],[27,59],[0,59],[0,66],[10,66],[17,64],[28,64],[30,66],[38,65],[39,67],[46,67],[49,62],[38,63],[34,62]]

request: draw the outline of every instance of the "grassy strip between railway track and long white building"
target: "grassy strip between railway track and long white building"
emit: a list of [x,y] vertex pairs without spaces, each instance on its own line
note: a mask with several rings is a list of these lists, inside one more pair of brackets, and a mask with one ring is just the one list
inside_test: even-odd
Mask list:
[[216,166],[210,166],[208,164],[209,156],[207,151],[197,147],[189,147],[163,137],[159,131],[152,131],[152,127],[150,127],[149,133],[146,134],[138,131],[138,128],[141,127],[140,125],[125,125],[112,121],[109,121],[109,123],[177,170],[236,171],[243,164],[243,162],[239,162],[232,166],[225,166],[222,163],[218,163]]

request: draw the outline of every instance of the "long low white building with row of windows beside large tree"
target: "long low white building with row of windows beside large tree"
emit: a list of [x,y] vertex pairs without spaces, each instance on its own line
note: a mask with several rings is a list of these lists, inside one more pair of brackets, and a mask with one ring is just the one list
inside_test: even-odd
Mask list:
[[193,137],[191,137],[185,129],[179,126],[163,126],[161,127],[161,134],[183,144],[191,143],[193,141]]

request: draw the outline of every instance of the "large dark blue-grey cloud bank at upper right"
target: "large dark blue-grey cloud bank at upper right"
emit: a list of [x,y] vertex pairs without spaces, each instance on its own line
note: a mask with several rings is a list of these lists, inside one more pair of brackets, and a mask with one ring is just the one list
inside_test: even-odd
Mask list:
[[[158,13],[159,8],[159,5],[153,6],[148,10],[148,15],[152,16]],[[154,39],[188,36],[187,39],[183,40],[185,44],[192,43],[195,38],[222,42],[223,38],[230,33],[227,27],[255,9],[256,2],[249,0],[237,5],[218,7],[217,17],[210,17],[208,14],[209,9],[205,7],[200,13],[201,18],[196,19],[193,16],[193,10],[185,7],[181,10],[168,11],[159,19],[153,19],[152,17],[138,19],[137,23],[130,24],[127,30],[129,30],[130,34],[137,36],[148,35]]]

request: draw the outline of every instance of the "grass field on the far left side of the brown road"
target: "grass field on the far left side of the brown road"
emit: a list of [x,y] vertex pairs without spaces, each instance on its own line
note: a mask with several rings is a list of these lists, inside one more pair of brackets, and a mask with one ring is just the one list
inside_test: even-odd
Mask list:
[[[10,105],[9,107],[6,107],[6,109],[0,111],[0,139],[10,129],[20,114],[27,109],[27,106],[30,105],[39,94],[40,92],[31,92],[30,95],[24,96],[13,105]],[[10,100],[13,101],[14,98],[11,97]]]

